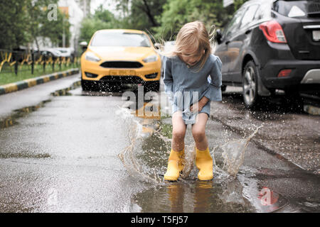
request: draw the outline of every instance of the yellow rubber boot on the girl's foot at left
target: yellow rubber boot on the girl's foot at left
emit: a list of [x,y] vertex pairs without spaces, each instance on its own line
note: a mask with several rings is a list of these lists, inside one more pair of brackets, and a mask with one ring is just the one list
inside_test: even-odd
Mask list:
[[180,176],[180,172],[183,170],[183,160],[184,160],[184,148],[181,151],[174,151],[171,149],[168,168],[166,174],[164,175],[165,180],[177,180]]

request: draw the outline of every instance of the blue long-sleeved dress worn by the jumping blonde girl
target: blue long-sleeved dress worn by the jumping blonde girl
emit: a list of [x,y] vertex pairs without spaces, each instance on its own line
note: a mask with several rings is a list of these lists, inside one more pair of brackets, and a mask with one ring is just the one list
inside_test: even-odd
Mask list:
[[190,106],[203,96],[210,99],[199,113],[210,116],[210,101],[221,101],[222,62],[218,56],[209,55],[203,68],[200,62],[188,67],[178,56],[163,57],[164,92],[169,96],[172,114],[183,111],[182,118],[186,124],[196,122],[196,114],[191,113]]

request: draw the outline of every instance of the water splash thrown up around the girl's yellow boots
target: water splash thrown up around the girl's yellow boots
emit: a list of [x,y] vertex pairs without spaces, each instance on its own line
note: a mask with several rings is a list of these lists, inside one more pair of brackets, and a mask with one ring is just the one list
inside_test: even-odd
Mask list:
[[[139,158],[136,155],[142,152],[139,150],[141,148],[141,143],[143,143],[144,137],[144,126],[142,126],[141,119],[134,117],[132,115],[132,111],[129,109],[119,109],[117,114],[122,116],[124,121],[129,121],[127,123],[129,128],[128,138],[129,145],[127,148],[122,150],[119,153],[119,158],[122,161],[124,167],[127,169],[130,175],[137,177],[137,179],[143,180],[145,182],[151,182],[154,184],[161,184],[164,182],[163,177],[159,175],[159,170],[162,167],[150,168],[145,165],[141,165],[139,162]],[[229,141],[228,143],[224,143],[223,145],[216,146],[211,152],[211,156],[213,157],[213,174],[215,179],[225,180],[230,177],[235,177],[238,174],[238,171],[244,161],[245,150],[247,149],[247,145],[250,140],[255,136],[257,131],[263,127],[258,126],[255,131],[248,137],[241,140]],[[153,130],[154,135],[156,135],[160,140],[164,142],[165,150],[167,153],[171,150],[171,138],[167,138],[161,133],[161,128],[158,130]],[[223,166],[219,167],[215,160],[215,152],[217,150],[223,150]],[[196,143],[185,143],[185,160],[184,160],[184,168],[181,173],[181,179],[189,179],[194,178],[191,176],[191,172],[194,169],[194,160],[196,157]],[[152,154],[150,154],[152,155]],[[146,156],[144,158],[151,159],[152,157]],[[159,158],[159,157],[156,157]],[[161,157],[162,158],[162,157]],[[162,158],[163,159],[163,158]],[[146,160],[142,160],[145,162]]]

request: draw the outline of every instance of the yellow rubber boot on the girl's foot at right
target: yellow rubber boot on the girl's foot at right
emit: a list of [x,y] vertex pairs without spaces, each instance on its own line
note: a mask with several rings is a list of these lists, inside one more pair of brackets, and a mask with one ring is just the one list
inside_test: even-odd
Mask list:
[[198,179],[213,179],[213,159],[210,155],[209,148],[206,150],[198,150],[196,148],[196,167],[198,167]]

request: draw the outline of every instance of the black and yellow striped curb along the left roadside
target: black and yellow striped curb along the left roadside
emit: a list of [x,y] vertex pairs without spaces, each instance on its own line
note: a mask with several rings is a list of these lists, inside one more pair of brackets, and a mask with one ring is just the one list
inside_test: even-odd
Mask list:
[[14,82],[11,84],[0,85],[0,95],[20,91],[20,90],[26,89],[28,87],[36,86],[37,84],[43,84],[43,83],[50,82],[55,79],[68,77],[70,75],[77,74],[77,73],[79,73],[79,69],[75,68],[75,69],[71,69],[71,70],[67,70],[67,71],[63,71],[63,72],[55,72],[53,74],[48,74],[48,75],[44,75],[41,77],[34,77],[31,79],[23,79],[22,81]]

